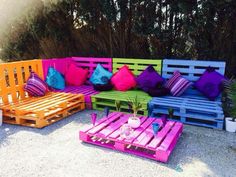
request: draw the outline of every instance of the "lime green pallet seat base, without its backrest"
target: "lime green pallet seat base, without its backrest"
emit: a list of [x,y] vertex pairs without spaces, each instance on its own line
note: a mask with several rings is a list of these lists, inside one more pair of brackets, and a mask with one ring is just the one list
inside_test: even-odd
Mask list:
[[152,97],[150,97],[147,93],[141,90],[129,90],[126,92],[112,90],[93,95],[92,96],[93,109],[103,110],[105,107],[109,107],[111,111],[115,111],[116,102],[120,101],[121,103],[120,111],[130,112],[128,106],[128,99],[129,98],[133,99],[135,98],[135,96],[138,96],[138,99],[142,103],[143,107],[143,111],[139,111],[139,114],[147,115],[148,114],[147,105]]

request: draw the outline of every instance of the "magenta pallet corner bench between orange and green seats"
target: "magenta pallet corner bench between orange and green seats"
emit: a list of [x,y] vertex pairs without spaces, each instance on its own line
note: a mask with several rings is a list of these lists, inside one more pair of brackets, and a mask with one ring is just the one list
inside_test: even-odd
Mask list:
[[[44,79],[46,79],[49,67],[54,67],[60,73],[65,75],[71,62],[74,62],[78,67],[88,69],[89,70],[88,79],[90,78],[97,64],[99,63],[104,68],[112,72],[111,58],[70,57],[70,58],[44,59],[42,61],[43,61]],[[92,108],[91,96],[99,93],[98,91],[94,90],[93,86],[89,85],[88,82],[86,83],[86,85],[82,86],[66,86],[64,90],[60,90],[59,92],[83,94],[85,96],[86,107],[90,109]]]

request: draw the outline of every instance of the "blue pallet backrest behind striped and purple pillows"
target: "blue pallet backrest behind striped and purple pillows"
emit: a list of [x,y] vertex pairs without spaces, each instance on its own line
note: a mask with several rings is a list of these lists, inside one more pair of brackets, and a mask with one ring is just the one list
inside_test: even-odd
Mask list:
[[[225,74],[225,62],[224,61],[199,61],[199,60],[178,60],[178,59],[164,59],[162,67],[162,77],[169,79],[173,72],[179,70],[183,77],[195,82],[204,73],[207,67],[214,67],[215,70],[222,75]],[[193,87],[188,89],[185,95],[197,95],[202,96]],[[217,100],[219,100],[219,97]]]

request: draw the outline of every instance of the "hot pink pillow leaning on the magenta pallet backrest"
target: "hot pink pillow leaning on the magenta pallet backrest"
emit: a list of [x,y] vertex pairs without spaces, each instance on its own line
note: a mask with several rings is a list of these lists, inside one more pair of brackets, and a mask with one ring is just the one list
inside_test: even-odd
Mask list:
[[88,70],[77,67],[74,63],[68,68],[65,79],[67,85],[80,86],[85,83],[88,77]]

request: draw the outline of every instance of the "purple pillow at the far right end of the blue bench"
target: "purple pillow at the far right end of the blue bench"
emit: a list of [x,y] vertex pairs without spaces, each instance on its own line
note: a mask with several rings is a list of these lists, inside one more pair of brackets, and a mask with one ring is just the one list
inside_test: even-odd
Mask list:
[[226,78],[216,72],[214,68],[207,68],[203,75],[195,82],[195,88],[205,95],[209,100],[214,101],[222,91],[222,81]]

